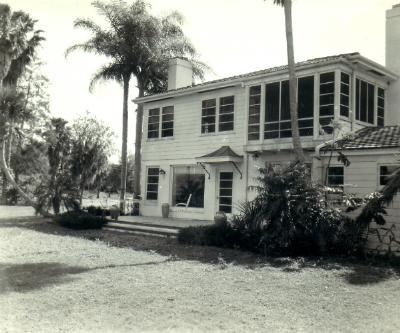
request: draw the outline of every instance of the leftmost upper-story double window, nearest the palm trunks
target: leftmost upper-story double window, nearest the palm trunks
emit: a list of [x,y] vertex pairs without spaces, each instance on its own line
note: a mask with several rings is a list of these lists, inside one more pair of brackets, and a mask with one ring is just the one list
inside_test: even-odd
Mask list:
[[149,139],[159,138],[161,133],[162,138],[174,135],[174,107],[165,106],[149,110],[149,120],[147,124],[147,137]]

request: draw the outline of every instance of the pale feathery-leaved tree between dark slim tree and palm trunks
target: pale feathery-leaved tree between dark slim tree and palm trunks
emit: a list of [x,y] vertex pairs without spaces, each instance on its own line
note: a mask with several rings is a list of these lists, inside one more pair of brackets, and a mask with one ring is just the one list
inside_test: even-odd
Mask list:
[[85,187],[107,169],[112,153],[114,133],[90,115],[78,118],[72,125],[71,172],[80,190],[80,204]]

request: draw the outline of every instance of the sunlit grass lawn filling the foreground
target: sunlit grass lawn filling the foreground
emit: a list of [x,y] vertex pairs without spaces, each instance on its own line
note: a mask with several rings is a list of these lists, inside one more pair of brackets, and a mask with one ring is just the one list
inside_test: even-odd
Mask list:
[[0,222],[1,332],[399,332],[396,268]]

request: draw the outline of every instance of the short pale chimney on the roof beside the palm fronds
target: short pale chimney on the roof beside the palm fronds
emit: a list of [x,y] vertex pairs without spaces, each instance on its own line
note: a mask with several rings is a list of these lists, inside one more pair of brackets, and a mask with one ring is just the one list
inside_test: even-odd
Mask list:
[[169,61],[168,90],[188,87],[193,84],[192,64],[183,59],[174,58]]

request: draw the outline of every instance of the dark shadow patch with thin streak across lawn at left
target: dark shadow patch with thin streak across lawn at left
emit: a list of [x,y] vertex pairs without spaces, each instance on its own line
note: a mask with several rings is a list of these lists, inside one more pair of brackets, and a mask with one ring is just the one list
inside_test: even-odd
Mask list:
[[29,292],[51,285],[68,283],[75,279],[74,275],[99,269],[159,265],[168,261],[170,261],[170,259],[134,264],[106,265],[92,268],[68,266],[57,262],[0,264],[0,294],[13,291]]

